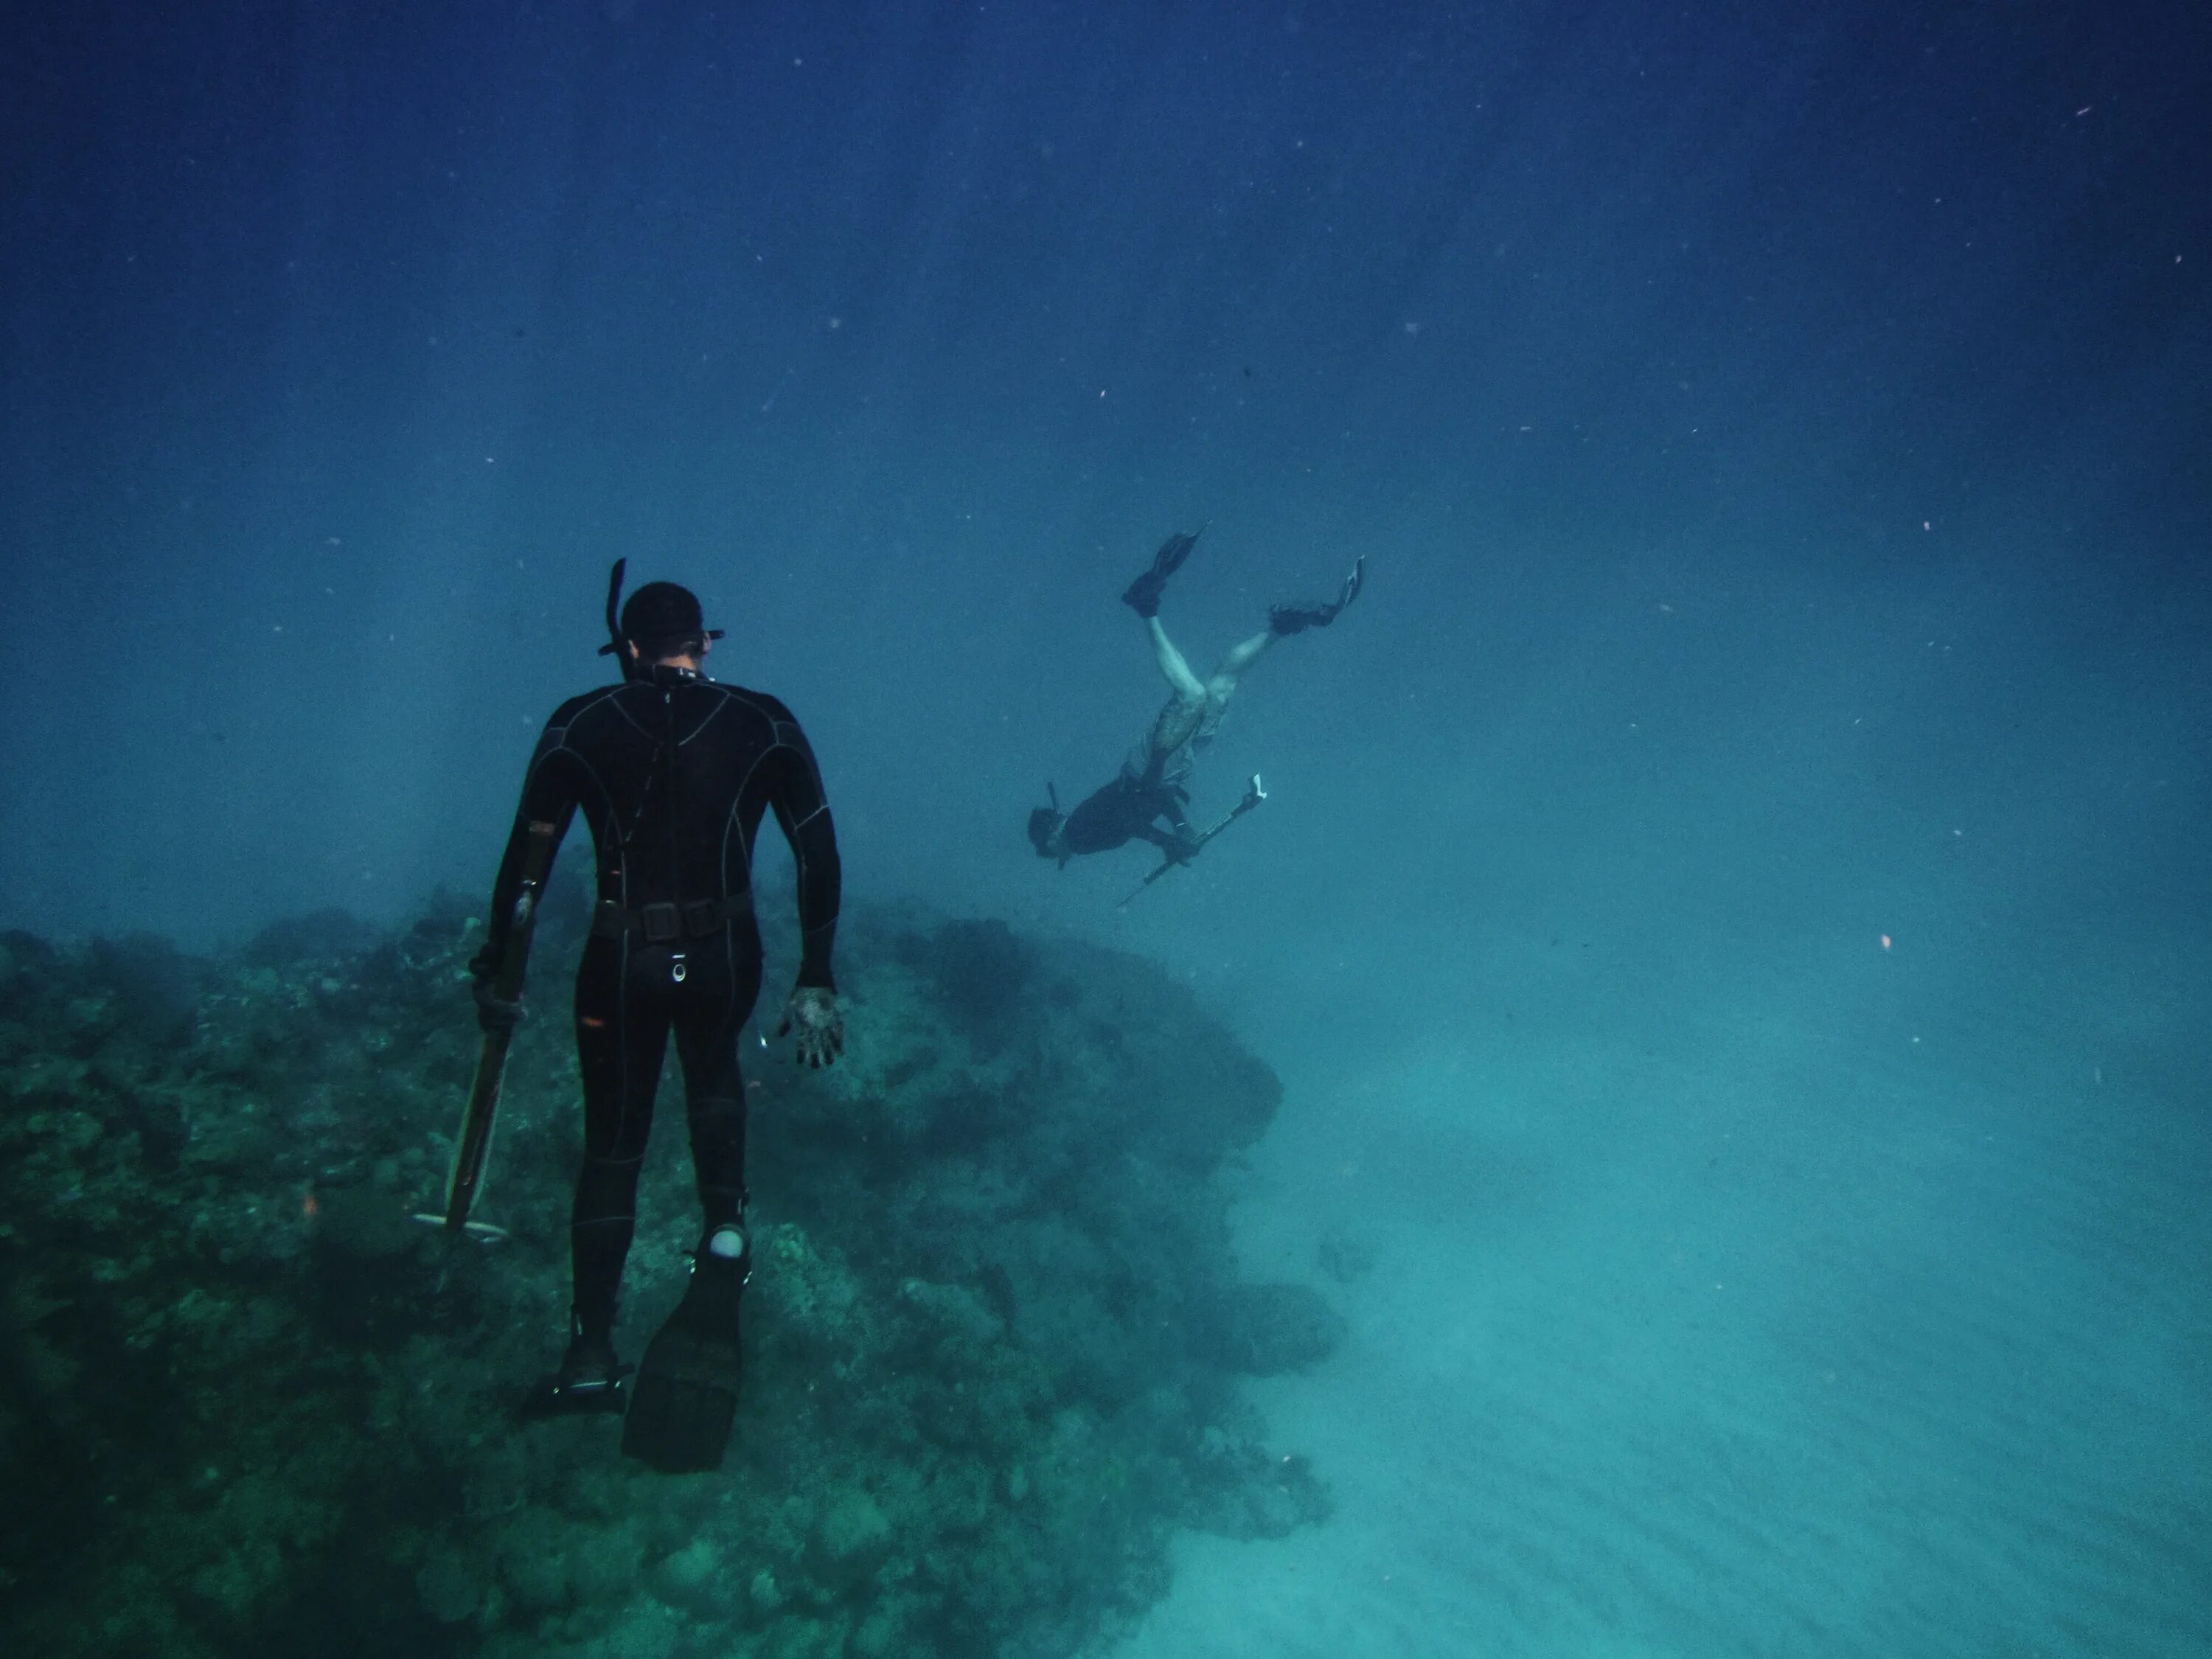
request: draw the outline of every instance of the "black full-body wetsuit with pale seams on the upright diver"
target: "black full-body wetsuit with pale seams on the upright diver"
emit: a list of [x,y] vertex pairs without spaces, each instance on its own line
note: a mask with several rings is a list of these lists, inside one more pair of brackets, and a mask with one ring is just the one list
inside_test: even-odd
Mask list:
[[478,973],[507,942],[529,825],[555,845],[582,810],[599,905],[575,975],[584,1172],[571,1217],[575,1321],[606,1336],[637,1223],[637,1172],[675,1031],[706,1225],[745,1208],[737,1037],[761,991],[752,843],[776,814],[799,865],[799,984],[836,989],[838,856],[814,752],[774,697],[681,668],[562,703],[546,721],[491,898]]

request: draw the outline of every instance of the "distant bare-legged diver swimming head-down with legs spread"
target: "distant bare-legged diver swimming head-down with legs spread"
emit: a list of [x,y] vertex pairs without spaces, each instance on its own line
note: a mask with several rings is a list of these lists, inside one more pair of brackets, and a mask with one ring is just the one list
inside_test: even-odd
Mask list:
[[[1040,858],[1057,858],[1066,867],[1068,858],[1088,852],[1113,852],[1130,841],[1150,841],[1166,854],[1168,863],[1190,863],[1203,836],[1190,827],[1183,807],[1190,803],[1190,779],[1197,752],[1214,741],[1221,714],[1228,710],[1237,681],[1259,661],[1276,639],[1307,628],[1327,628],[1338,613],[1360,593],[1367,560],[1352,564],[1345,588],[1329,602],[1279,604],[1267,611],[1267,626],[1232,646],[1214,666],[1210,679],[1199,679],[1183,661],[1183,653],[1159,626],[1159,597],[1168,577],[1190,557],[1199,535],[1170,535],[1152,555],[1152,568],[1128,584],[1121,604],[1144,617],[1144,628],[1152,639],[1152,657],[1168,681],[1168,701],[1139,743],[1121,761],[1121,772],[1075,807],[1060,812],[1060,796],[1053,805],[1029,814],[1029,845]],[[1248,803],[1256,796],[1248,796]],[[1166,825],[1166,827],[1164,827]]]

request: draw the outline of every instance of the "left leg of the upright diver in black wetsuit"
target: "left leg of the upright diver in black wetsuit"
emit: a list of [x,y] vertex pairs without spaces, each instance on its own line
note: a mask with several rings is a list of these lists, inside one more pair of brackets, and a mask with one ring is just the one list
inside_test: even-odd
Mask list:
[[637,1232],[637,1172],[668,1051],[666,971],[635,973],[630,956],[628,940],[593,940],[575,980],[584,1168],[568,1212],[568,1261],[575,1338],[595,1345],[615,1329],[622,1265]]

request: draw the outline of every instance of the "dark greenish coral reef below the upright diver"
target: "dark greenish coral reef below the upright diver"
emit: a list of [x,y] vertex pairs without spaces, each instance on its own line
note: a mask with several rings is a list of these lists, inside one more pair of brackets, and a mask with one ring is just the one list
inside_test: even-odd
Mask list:
[[[582,900],[549,902],[564,1004]],[[0,1628],[15,1652],[956,1659],[1110,1641],[1179,1526],[1327,1498],[1239,1376],[1321,1301],[1241,1285],[1223,1159],[1274,1075],[1137,958],[847,920],[845,1064],[754,1077],[745,1396],[719,1475],[604,1418],[520,1425],[560,1347],[564,1020],[524,1024],[484,1219],[442,1181],[476,922],[438,900],[195,960],[0,938]],[[772,953],[787,940],[772,940]],[[635,1354],[697,1237],[679,1082],[630,1259]]]

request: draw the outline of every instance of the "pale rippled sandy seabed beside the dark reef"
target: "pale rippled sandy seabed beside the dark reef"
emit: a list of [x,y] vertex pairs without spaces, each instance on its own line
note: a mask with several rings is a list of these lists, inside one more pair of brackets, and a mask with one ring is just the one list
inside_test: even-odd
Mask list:
[[1241,1243],[1352,1321],[1263,1394],[1338,1513],[1186,1540],[1117,1659],[2212,1652],[2185,1002],[1774,982],[1276,1053]]

